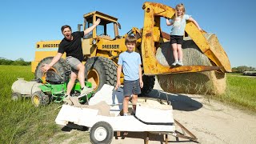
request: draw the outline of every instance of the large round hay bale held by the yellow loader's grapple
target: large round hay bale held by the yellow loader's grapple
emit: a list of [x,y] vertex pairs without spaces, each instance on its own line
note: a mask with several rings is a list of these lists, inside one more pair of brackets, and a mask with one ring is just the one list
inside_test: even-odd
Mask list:
[[[184,66],[214,66],[190,38],[184,38],[182,51]],[[174,62],[169,42],[158,48],[157,58],[164,66]],[[226,74],[221,71],[162,74],[158,75],[158,82],[162,90],[175,94],[224,94],[226,90]]]

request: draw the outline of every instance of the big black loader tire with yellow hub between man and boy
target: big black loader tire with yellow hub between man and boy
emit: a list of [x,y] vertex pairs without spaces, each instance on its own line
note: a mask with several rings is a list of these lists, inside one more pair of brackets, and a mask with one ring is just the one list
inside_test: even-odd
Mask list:
[[[115,86],[117,82],[117,66],[108,58],[92,57],[86,61],[85,77],[96,86],[94,91],[101,90],[104,84]],[[94,79],[92,81],[92,79]]]

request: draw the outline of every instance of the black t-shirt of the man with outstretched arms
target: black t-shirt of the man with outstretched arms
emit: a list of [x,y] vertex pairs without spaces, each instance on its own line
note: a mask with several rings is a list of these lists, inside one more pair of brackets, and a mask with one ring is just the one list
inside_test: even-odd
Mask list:
[[63,38],[62,42],[59,44],[58,53],[64,54],[64,52],[66,52],[66,57],[72,56],[74,58],[78,58],[78,60],[82,62],[83,54],[81,38],[83,37],[83,35],[83,31],[77,31],[72,33],[72,41]]

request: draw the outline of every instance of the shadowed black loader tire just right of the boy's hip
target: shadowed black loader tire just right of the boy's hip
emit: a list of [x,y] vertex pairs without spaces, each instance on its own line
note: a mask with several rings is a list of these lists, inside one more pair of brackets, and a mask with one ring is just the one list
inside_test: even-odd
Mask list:
[[139,94],[139,97],[145,96],[145,94],[149,94],[151,90],[154,88],[154,76],[142,76],[143,87],[142,87],[142,94]]

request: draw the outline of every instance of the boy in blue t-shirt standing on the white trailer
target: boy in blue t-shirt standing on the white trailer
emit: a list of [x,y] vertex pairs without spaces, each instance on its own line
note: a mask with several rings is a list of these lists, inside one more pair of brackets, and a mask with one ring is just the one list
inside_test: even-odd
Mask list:
[[138,94],[141,94],[141,88],[143,87],[142,82],[142,61],[141,56],[134,52],[134,47],[136,46],[137,38],[134,36],[126,37],[126,47],[127,50],[122,52],[118,58],[118,81],[115,89],[121,85],[120,76],[123,71],[124,82],[123,82],[123,115],[127,116],[128,113],[128,102],[130,95],[132,95],[132,104],[135,114],[136,104],[138,101]]

